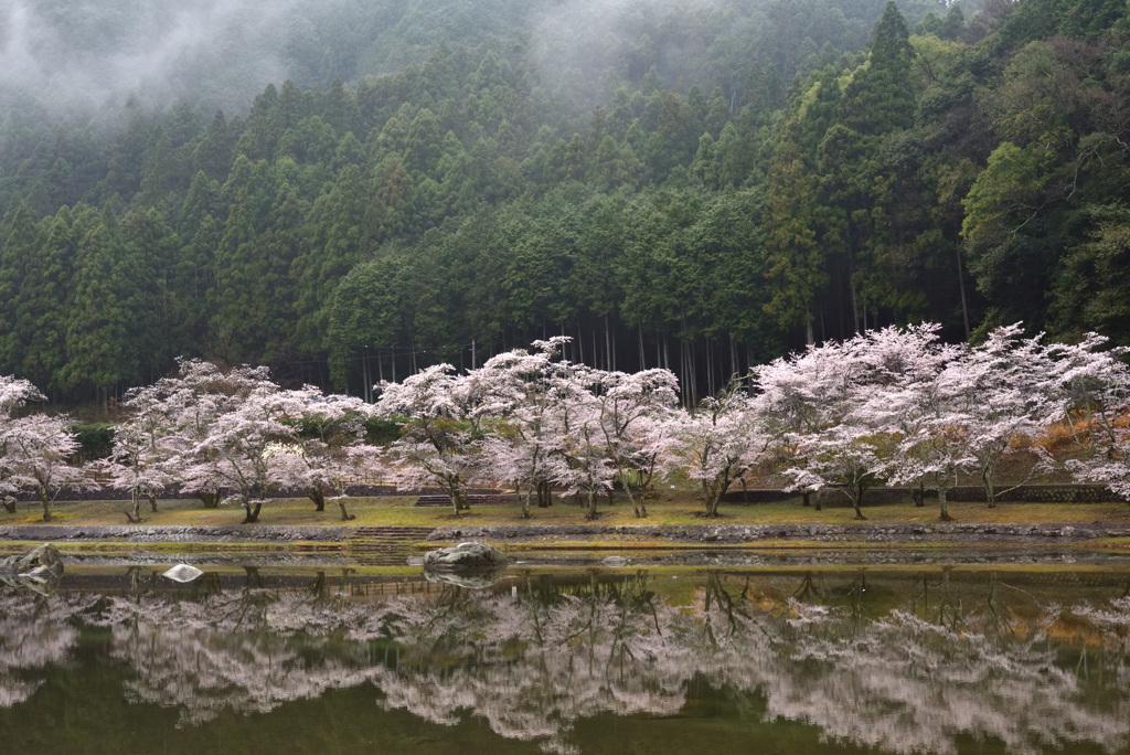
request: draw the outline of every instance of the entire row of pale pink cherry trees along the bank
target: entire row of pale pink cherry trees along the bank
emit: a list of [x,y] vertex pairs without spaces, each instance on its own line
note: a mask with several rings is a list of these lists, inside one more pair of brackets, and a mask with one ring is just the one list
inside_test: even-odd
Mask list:
[[[860,519],[872,485],[911,486],[920,504],[929,489],[945,520],[958,479],[980,479],[994,505],[1007,454],[1054,468],[1041,439],[1057,426],[1077,441],[1063,468],[1130,498],[1130,371],[1097,336],[1045,344],[1012,326],[970,347],[941,342],[932,324],[887,328],[757,367],[693,410],[679,407],[669,371],[573,363],[562,358],[565,340],[463,374],[428,367],[379,385],[374,405],[284,390],[262,367],[185,359],[176,376],[129,391],[130,418],[97,463],[130,493],[134,521],[144,500],[156,507],[172,485],[206,506],[237,503],[246,522],[268,496],[296,491],[319,511],[337,502],[348,519],[349,485],[374,476],[437,487],[457,514],[473,485],[488,484],[513,487],[524,515],[557,492],[594,518],[615,489],[646,517],[641,492],[680,475],[714,517],[755,471],[780,472],[805,494],[840,491]],[[66,418],[21,411],[42,398],[27,381],[0,379],[0,494],[11,511],[19,491],[35,489],[49,519],[53,494],[81,471],[66,463],[77,446]],[[368,443],[373,417],[397,422],[400,437]]]

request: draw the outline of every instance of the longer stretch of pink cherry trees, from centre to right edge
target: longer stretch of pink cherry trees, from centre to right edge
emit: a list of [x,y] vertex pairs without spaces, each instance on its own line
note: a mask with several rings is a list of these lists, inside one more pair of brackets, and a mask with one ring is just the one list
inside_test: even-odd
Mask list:
[[869,486],[911,486],[919,503],[929,489],[947,520],[962,478],[980,479],[996,505],[1007,454],[1052,470],[1040,441],[1055,425],[1076,433],[1076,479],[1130,497],[1130,372],[1097,336],[1044,344],[1012,326],[968,347],[941,342],[933,324],[887,328],[757,367],[690,411],[671,373],[594,370],[559,358],[560,344],[385,384],[377,410],[407,418],[393,444],[402,479],[438,484],[457,506],[472,479],[507,481],[527,514],[560,489],[593,517],[623,487],[644,517],[634,489],[681,474],[714,517],[731,484],[776,470],[794,491],[842,492],[859,519]]

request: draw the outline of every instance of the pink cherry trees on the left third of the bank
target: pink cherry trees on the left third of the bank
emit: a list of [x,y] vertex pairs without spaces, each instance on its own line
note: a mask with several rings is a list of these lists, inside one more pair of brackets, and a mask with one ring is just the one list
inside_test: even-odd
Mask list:
[[347,486],[380,458],[380,449],[364,442],[372,407],[311,387],[282,390],[264,367],[221,371],[184,359],[176,376],[131,389],[123,402],[131,414],[114,431],[112,454],[86,468],[68,463],[78,443],[64,416],[15,416],[43,399],[31,383],[3,378],[0,391],[0,493],[15,511],[16,496],[35,489],[44,521],[60,489],[93,484],[86,471],[130,494],[131,521],[141,521],[144,500],[156,511],[171,486],[206,507],[242,505],[246,522],[258,521],[267,497],[284,491],[301,491],[319,511],[336,501],[347,519]]

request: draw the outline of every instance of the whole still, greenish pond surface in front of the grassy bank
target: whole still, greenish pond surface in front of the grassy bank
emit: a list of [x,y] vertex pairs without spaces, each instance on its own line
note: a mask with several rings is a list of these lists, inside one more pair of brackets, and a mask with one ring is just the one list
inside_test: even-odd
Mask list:
[[0,588],[24,753],[1130,753],[1130,566],[71,566]]

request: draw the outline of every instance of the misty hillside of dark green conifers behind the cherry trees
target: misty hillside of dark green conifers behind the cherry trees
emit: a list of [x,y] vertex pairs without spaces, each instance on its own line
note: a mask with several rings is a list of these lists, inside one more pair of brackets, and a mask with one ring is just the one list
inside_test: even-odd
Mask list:
[[17,0],[0,374],[360,393],[564,333],[689,400],[923,319],[1130,344],[1128,35],[1124,0]]

